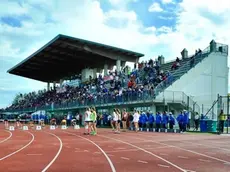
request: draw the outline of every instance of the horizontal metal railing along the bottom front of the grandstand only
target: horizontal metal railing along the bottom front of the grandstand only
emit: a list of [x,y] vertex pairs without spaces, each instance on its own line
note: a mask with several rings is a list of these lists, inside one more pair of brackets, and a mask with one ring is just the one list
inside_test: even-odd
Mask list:
[[[181,91],[164,91],[164,94],[160,97],[158,96],[156,99],[153,90],[146,90],[143,92],[135,93],[127,92],[122,96],[105,95],[97,97],[96,99],[85,98],[80,100],[65,101],[61,103],[52,103],[51,105],[41,107],[8,110],[7,112],[34,112],[38,110],[56,111],[65,109],[81,109],[88,106],[113,107],[129,105],[132,106],[134,104],[139,104],[140,106],[148,106],[154,102],[164,103],[165,101],[168,103],[181,103],[186,108],[186,106],[188,106],[188,99],[191,98],[189,98],[189,96]],[[192,102],[192,99],[189,102]]]

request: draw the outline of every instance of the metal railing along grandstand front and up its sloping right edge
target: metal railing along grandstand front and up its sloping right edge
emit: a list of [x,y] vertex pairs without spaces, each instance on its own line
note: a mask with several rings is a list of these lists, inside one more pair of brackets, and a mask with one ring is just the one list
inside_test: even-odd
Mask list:
[[[220,48],[222,47],[222,48]],[[228,46],[216,43],[216,49],[215,52],[221,52],[221,53],[227,53],[228,54]],[[201,62],[203,59],[208,57],[208,55],[211,53],[210,46],[205,48],[201,54],[195,56],[195,61],[193,64],[193,67],[196,66],[199,62]],[[145,103],[150,101],[155,101],[155,98],[161,99],[162,101],[175,101],[177,100],[175,97],[176,92],[173,91],[173,95],[171,98],[169,96],[166,96],[168,94],[168,91],[165,91],[165,89],[172,85],[176,80],[178,80],[182,75],[184,75],[186,72],[188,72],[191,69],[191,60],[189,59],[184,65],[179,67],[175,72],[173,72],[169,77],[167,77],[166,80],[159,83],[154,90],[146,90],[143,92],[126,92],[122,96],[119,95],[109,95],[105,94],[102,96],[97,96],[96,98],[81,98],[77,100],[71,100],[66,101],[62,103],[55,103],[52,105],[42,106],[42,107],[31,107],[31,108],[23,108],[23,109],[16,109],[16,110],[8,110],[8,112],[32,112],[36,110],[58,110],[63,108],[83,108],[87,106],[111,106],[111,105],[122,105],[122,104],[133,104],[133,103]],[[159,96],[160,93],[163,93],[162,96]],[[187,104],[187,108],[195,109],[196,112],[200,112],[200,107],[196,102],[194,102],[191,97],[187,96],[183,92],[181,92],[181,99],[180,101],[184,104]]]

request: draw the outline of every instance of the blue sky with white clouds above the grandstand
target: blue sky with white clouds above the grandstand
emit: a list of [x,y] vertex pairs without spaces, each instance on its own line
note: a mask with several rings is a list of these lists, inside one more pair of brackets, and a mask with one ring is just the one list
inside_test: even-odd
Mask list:
[[167,61],[212,39],[230,45],[229,16],[228,0],[1,0],[0,108],[17,93],[46,88],[6,71],[58,34]]

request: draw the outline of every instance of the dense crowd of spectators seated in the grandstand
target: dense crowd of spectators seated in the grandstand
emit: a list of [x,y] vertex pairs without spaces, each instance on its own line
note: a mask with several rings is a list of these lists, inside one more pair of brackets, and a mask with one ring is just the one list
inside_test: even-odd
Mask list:
[[[180,59],[175,61],[176,70],[180,66]],[[153,98],[155,88],[162,81],[172,77],[171,71],[163,71],[160,61],[152,60],[137,63],[134,69],[127,68],[110,71],[107,76],[101,74],[96,79],[90,79],[79,86],[68,86],[40,90],[37,93],[20,94],[17,101],[6,109],[24,109],[45,106],[66,106],[69,104],[89,105],[99,103],[122,103],[125,101]]]

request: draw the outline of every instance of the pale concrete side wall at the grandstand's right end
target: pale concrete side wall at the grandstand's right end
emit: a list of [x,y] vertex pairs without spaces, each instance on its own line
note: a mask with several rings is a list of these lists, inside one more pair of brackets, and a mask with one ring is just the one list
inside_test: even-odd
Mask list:
[[[191,96],[204,113],[212,106],[217,95],[228,93],[228,58],[227,55],[215,52],[201,63],[175,81],[166,91],[183,91]],[[215,117],[216,118],[216,117]]]

